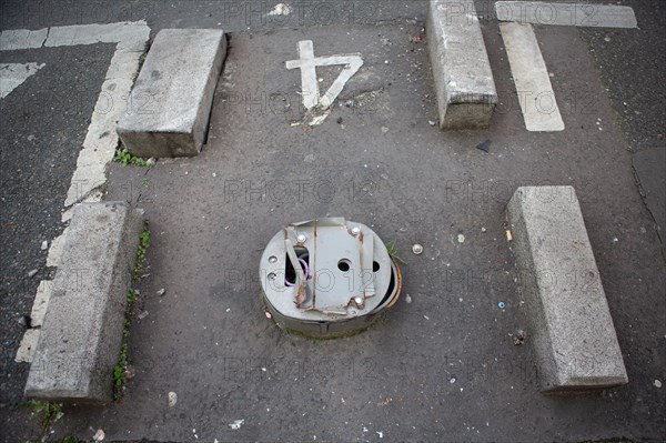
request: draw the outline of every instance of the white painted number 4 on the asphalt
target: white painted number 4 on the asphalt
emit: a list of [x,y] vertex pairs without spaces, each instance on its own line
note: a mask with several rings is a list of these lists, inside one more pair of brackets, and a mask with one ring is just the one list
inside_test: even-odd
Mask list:
[[[326,93],[321,97],[316,78],[316,67],[331,67],[335,64],[343,64],[344,68]],[[314,57],[312,40],[299,42],[299,60],[289,60],[286,69],[301,70],[301,92],[305,109],[310,111],[317,108],[323,111],[322,115],[312,119],[310,125],[321,124],[329,117],[331,104],[333,104],[346,82],[359,72],[362,66],[363,58],[360,53]]]

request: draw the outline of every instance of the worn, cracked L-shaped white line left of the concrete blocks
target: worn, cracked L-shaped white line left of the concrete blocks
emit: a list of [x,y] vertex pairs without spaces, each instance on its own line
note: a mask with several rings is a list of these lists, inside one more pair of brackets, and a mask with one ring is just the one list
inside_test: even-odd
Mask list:
[[[57,27],[38,31],[19,29],[0,33],[0,50],[4,51],[93,43],[117,44],[90,119],[83,149],[77,159],[77,169],[64,201],[65,209],[82,201],[95,202],[102,199],[99,187],[107,181],[107,164],[113,159],[119,141],[115,123],[128,105],[128,98],[149,37],[150,28],[145,21]],[[29,64],[37,66],[37,63]],[[71,208],[63,212],[63,222],[69,220],[71,212]],[[58,266],[60,263],[65,233],[67,228],[51,242],[47,266]],[[42,295],[38,289],[33,305],[38,313],[44,310],[46,302]],[[17,361],[32,361],[38,336],[37,329],[26,332],[17,352]]]

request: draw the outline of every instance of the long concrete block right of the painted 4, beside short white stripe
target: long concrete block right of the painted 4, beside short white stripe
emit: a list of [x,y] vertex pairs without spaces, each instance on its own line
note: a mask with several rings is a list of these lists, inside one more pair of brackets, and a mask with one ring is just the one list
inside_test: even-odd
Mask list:
[[440,128],[487,128],[497,91],[474,1],[430,0],[426,33]]

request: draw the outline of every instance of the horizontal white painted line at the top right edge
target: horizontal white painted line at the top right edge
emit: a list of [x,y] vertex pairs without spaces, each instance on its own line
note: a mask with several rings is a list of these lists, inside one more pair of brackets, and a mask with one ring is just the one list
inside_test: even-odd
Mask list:
[[498,1],[495,13],[500,21],[593,28],[637,28],[629,7],[583,3],[546,3],[539,1]]

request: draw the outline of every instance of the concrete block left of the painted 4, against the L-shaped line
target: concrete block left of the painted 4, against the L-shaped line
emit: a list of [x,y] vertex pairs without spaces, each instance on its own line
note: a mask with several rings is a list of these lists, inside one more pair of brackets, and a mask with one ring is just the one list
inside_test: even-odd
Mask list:
[[221,30],[160,31],[118,123],[125,148],[143,158],[199,154],[225,56]]

